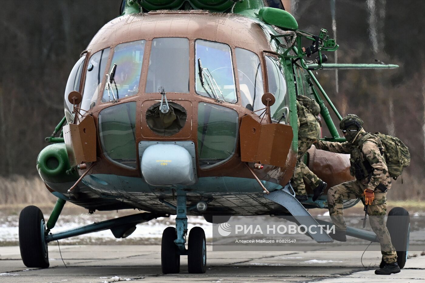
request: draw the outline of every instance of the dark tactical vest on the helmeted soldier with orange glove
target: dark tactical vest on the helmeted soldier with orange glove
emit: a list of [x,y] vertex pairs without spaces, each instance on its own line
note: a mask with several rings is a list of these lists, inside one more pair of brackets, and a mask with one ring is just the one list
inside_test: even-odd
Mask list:
[[[360,133],[361,134],[361,133]],[[363,154],[363,144],[368,139],[373,139],[378,144],[380,153],[382,154],[382,142],[376,136],[371,133],[365,133],[363,136],[358,137],[356,144],[352,144],[351,155],[350,155],[350,173],[357,179],[371,178],[373,173],[373,167]],[[382,156],[384,158],[384,156]],[[384,158],[385,161],[385,158]]]

